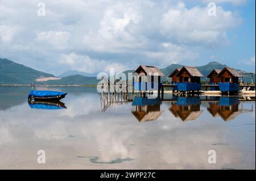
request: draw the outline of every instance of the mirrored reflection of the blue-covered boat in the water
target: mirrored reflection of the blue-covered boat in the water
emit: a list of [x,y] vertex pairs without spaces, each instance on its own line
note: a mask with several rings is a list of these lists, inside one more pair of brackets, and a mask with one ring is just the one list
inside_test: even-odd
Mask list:
[[52,102],[46,102],[46,101],[30,101],[28,100],[28,105],[32,109],[39,109],[39,110],[61,110],[61,109],[67,109],[65,107],[65,104],[60,102],[59,100],[52,101]]

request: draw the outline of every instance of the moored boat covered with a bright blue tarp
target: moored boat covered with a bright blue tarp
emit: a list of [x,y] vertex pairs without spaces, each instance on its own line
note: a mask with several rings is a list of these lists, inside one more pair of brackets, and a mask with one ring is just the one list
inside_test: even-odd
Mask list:
[[68,93],[58,91],[31,91],[28,99],[34,100],[60,100],[65,98]]

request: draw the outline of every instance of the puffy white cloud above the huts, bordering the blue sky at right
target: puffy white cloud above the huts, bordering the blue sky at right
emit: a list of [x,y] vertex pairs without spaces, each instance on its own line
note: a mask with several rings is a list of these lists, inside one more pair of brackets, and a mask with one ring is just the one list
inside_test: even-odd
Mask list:
[[217,6],[216,12],[216,16],[209,16],[208,7],[187,9],[184,3],[178,3],[163,14],[161,32],[179,43],[219,47],[228,43],[226,31],[241,20],[221,6]]

